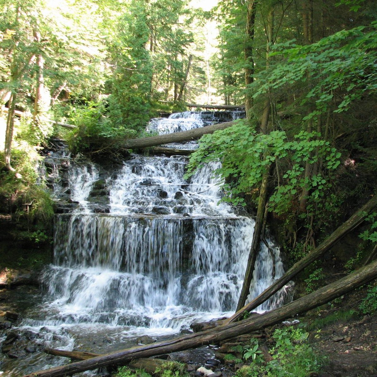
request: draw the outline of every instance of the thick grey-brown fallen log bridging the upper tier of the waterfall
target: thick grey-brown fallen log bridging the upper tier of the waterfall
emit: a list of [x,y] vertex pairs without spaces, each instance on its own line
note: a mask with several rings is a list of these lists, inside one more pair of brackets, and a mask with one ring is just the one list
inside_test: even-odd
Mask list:
[[161,144],[180,143],[181,141],[189,141],[200,139],[205,133],[213,133],[217,130],[223,130],[227,127],[233,126],[233,122],[224,122],[213,124],[212,126],[195,128],[193,130],[167,133],[166,135],[150,136],[148,138],[129,139],[123,144],[127,149],[140,149],[146,147],[153,147]]

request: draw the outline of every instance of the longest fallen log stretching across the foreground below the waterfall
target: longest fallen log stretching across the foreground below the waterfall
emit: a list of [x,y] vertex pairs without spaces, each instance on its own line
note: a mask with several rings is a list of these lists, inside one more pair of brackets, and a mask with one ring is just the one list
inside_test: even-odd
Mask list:
[[260,316],[244,319],[239,322],[230,323],[226,326],[210,329],[203,333],[194,333],[187,336],[177,337],[165,342],[152,343],[145,346],[138,346],[110,354],[93,357],[63,366],[58,366],[44,371],[32,372],[24,377],[63,377],[89,369],[96,369],[107,365],[124,365],[129,360],[140,357],[162,355],[184,349],[196,348],[202,345],[218,343],[234,336],[247,334],[266,326],[274,325],[284,319],[303,313],[317,306],[323,305],[342,294],[360,287],[377,277],[377,261],[366,267],[349,274],[326,287],[308,294],[296,301],[290,302],[283,307],[271,310]]

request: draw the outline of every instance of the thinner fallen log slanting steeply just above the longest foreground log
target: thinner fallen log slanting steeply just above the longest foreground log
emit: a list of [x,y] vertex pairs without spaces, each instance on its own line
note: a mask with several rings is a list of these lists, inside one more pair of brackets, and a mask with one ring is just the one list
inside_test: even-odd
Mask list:
[[355,229],[361,222],[364,221],[366,216],[371,213],[374,207],[377,205],[377,195],[373,196],[371,200],[368,201],[359,211],[354,213],[345,223],[340,225],[334,233],[331,234],[325,241],[322,242],[317,248],[312,250],[305,257],[300,259],[296,264],[294,264],[280,279],[276,280],[274,284],[270,285],[266,290],[264,290],[259,296],[254,300],[246,304],[244,307],[236,311],[228,320],[224,322],[224,325],[228,323],[235,322],[242,317],[245,311],[251,311],[268,300],[274,293],[276,293],[280,288],[284,287],[294,276],[301,272],[305,267],[310,265],[320,256],[322,256],[329,248],[331,248],[336,242],[343,238],[348,232]]

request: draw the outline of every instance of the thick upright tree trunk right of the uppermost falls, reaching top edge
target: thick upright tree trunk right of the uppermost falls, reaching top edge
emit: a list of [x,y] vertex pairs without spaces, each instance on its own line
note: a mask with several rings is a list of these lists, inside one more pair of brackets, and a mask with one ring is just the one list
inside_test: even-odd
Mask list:
[[[253,41],[254,41],[254,26],[255,26],[256,1],[249,0],[247,3],[247,18],[246,18],[246,41],[245,41],[245,84],[246,89],[254,81],[254,58],[253,58]],[[253,98],[250,90],[247,90],[245,95],[246,117],[251,119],[253,107]]]

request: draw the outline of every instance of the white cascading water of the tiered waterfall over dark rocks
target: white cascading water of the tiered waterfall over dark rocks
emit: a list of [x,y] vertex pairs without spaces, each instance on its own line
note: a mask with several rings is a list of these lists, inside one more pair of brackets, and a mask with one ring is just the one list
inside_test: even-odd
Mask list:
[[[202,116],[186,112],[153,120],[149,129],[164,133],[203,125]],[[43,346],[93,351],[96,346],[80,340],[83,334],[116,343],[175,334],[192,322],[233,313],[254,220],[218,204],[220,182],[211,176],[219,162],[190,181],[183,179],[186,164],[183,156],[135,155],[103,176],[100,166],[70,161],[68,182],[54,187],[58,198],[69,193],[76,207],[55,217],[54,264],[42,277],[48,296],[23,319],[22,334],[36,334]],[[98,192],[101,204],[93,200]],[[251,297],[284,272],[279,248],[268,242],[257,257]],[[258,310],[283,299],[281,291]],[[49,366],[38,355],[33,369],[24,366],[23,372]],[[6,363],[0,369],[6,367],[18,375]]]

